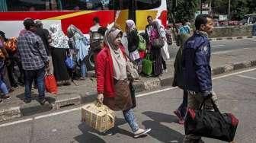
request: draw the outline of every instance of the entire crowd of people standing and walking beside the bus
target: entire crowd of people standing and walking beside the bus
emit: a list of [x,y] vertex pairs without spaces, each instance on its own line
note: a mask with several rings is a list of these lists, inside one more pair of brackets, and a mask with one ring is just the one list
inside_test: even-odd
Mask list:
[[[93,21],[90,41],[74,25],[68,27],[66,36],[59,24],[53,24],[46,30],[41,21],[31,18],[24,20],[24,30],[21,30],[17,40],[6,38],[5,33],[0,31],[2,99],[9,98],[8,93],[15,87],[24,85],[24,102],[30,103],[34,83],[34,87],[38,88],[39,102],[44,104],[45,75],[54,75],[59,86],[71,84],[74,78],[85,80],[85,57],[91,49],[94,52],[98,102],[112,110],[122,110],[135,138],[145,135],[151,129],[140,129],[136,121],[132,83],[143,75],[142,61],[146,56],[152,61],[151,76],[158,77],[167,71],[166,60],[170,58],[168,43],[173,43],[173,38],[161,21],[148,16],[149,24],[141,35],[133,20],[126,21],[128,44],[124,46],[123,32],[116,25],[101,27],[98,17],[94,17]],[[212,91],[208,39],[208,34],[213,31],[213,21],[209,15],[200,14],[195,27],[196,31],[191,37],[187,23],[178,29],[181,44],[174,62],[173,86],[184,90],[183,102],[174,111],[181,124],[184,123],[187,106],[197,109],[200,102],[209,100],[209,97],[216,101],[216,94]],[[206,107],[212,109],[210,101],[206,102]],[[111,134],[111,131],[107,134]],[[185,142],[192,140],[201,141],[200,137],[194,135],[185,136]]]

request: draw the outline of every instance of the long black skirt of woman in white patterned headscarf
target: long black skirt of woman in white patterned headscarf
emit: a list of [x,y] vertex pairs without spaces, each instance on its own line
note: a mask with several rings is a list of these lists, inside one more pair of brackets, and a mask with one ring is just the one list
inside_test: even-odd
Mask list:
[[52,51],[54,76],[58,84],[70,84],[69,72],[65,65],[66,49],[55,48]]

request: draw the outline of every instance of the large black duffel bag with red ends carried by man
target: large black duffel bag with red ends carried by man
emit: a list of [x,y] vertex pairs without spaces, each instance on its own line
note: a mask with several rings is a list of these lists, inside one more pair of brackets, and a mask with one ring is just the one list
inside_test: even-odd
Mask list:
[[207,138],[215,138],[222,141],[233,141],[238,126],[238,119],[231,113],[220,113],[213,103],[214,111],[202,109],[203,103],[198,110],[188,108],[184,122],[186,135],[198,135]]

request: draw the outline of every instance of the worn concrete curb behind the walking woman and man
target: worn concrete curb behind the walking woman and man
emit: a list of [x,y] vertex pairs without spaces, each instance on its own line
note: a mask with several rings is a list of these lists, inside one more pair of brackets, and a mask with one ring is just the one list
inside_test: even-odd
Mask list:
[[[223,73],[227,73],[230,71],[235,71],[243,68],[250,68],[256,66],[256,59],[246,62],[236,62],[229,65],[223,65],[221,67],[216,67],[212,69],[212,75],[220,75]],[[157,89],[160,87],[171,86],[173,81],[173,77],[165,76],[160,78],[151,78],[147,81],[138,81],[134,82],[133,85],[135,87],[136,93],[142,91],[150,91],[153,89]],[[7,121],[10,119],[16,119],[22,116],[30,116],[34,113],[43,113],[50,110],[59,110],[65,106],[72,106],[72,105],[80,105],[83,103],[90,103],[95,100],[97,97],[97,93],[85,93],[85,94],[72,94],[69,95],[68,98],[58,99],[50,101],[49,104],[45,104],[43,106],[37,101],[31,104],[25,104],[24,106],[15,106],[8,108],[6,110],[0,110],[0,122]],[[62,97],[63,98],[63,97]]]

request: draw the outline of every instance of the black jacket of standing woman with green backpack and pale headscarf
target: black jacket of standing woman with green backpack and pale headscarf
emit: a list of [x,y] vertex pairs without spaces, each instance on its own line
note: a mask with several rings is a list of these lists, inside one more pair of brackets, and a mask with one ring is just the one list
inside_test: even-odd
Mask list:
[[133,52],[138,48],[139,45],[139,36],[137,30],[130,30],[130,32],[127,33],[127,39],[128,39],[128,51]]

